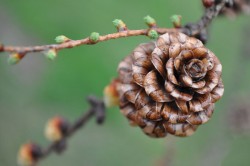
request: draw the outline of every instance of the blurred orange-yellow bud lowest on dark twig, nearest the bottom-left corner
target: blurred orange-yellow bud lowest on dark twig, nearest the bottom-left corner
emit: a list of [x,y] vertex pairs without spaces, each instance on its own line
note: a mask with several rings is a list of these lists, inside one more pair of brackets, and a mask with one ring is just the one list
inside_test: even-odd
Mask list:
[[21,166],[33,166],[41,157],[42,150],[40,146],[27,143],[21,146],[18,152],[18,164]]

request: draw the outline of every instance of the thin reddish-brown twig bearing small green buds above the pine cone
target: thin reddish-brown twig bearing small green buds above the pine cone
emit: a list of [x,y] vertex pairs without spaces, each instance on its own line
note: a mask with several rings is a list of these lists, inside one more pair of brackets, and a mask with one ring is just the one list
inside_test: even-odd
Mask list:
[[[196,23],[187,24],[183,28],[153,28],[159,34],[164,34],[167,32],[183,32],[189,36],[197,36],[199,35],[202,30],[206,29],[211,21],[219,14],[219,12],[225,6],[227,0],[222,0],[220,3],[206,9],[205,14],[201,17],[201,19]],[[147,36],[150,29],[141,29],[141,30],[126,30],[122,32],[112,33],[104,36],[100,36],[98,42],[108,41],[111,39],[119,39],[131,36]],[[96,43],[98,43],[96,42]],[[51,44],[51,45],[42,45],[42,46],[27,46],[27,47],[18,47],[18,46],[0,46],[0,52],[15,52],[15,53],[22,53],[27,54],[30,52],[43,52],[49,49],[55,49],[57,51],[66,49],[66,48],[73,48],[80,45],[86,44],[96,44],[93,43],[90,38],[85,38],[81,40],[70,40],[65,43],[61,44]]]

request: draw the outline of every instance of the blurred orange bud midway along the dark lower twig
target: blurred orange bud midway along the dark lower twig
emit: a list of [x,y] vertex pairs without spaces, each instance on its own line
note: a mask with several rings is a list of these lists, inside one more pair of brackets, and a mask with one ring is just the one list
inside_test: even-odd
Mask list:
[[61,118],[54,117],[50,119],[45,128],[45,136],[48,140],[56,142],[61,140],[67,133],[69,123]]

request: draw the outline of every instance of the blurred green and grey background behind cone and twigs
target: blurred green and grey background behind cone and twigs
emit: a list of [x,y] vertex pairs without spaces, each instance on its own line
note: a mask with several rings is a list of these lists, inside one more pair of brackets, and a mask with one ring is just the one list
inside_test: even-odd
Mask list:
[[[200,0],[0,0],[0,41],[11,45],[54,43],[64,34],[73,39],[97,31],[112,33],[112,20],[124,20],[130,29],[146,28],[142,18],[153,16],[162,27],[180,14],[183,23],[203,12]],[[106,123],[94,120],[75,134],[62,156],[55,154],[39,165],[60,166],[210,166],[250,165],[249,131],[230,130],[228,113],[237,96],[250,92],[249,16],[218,18],[210,28],[207,47],[223,64],[224,97],[213,118],[189,138],[152,139],[128,125],[118,108],[110,109]],[[40,53],[29,54],[15,66],[0,57],[0,166],[16,165],[21,144],[34,140],[46,146],[44,124],[54,115],[73,121],[87,108],[85,97],[102,96],[116,77],[117,64],[146,37],[131,37],[63,50],[51,62]],[[248,49],[248,51],[247,51]],[[250,95],[249,95],[250,96]]]

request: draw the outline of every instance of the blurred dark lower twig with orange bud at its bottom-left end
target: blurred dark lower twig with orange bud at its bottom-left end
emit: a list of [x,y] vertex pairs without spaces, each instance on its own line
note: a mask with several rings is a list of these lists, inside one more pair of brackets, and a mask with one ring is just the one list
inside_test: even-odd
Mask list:
[[[93,117],[96,117],[97,124],[102,124],[105,120],[106,112],[104,102],[94,96],[88,97],[87,100],[90,103],[90,109],[71,125],[67,124],[67,129],[63,131],[63,135],[58,141],[53,141],[46,148],[42,148],[34,143],[23,145],[18,154],[19,164],[34,166],[38,161],[48,157],[53,152],[61,154],[66,150],[68,139],[79,131],[79,129],[84,127],[84,125]],[[59,128],[60,131],[63,130],[63,128],[61,128],[63,126],[58,126],[58,123],[56,124],[56,127]]]

